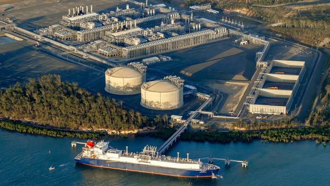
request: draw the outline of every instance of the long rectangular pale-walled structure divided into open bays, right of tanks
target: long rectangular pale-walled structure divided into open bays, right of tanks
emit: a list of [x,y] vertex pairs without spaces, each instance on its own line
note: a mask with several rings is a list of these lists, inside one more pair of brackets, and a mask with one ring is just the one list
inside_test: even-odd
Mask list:
[[288,114],[305,71],[304,61],[271,61],[249,111],[259,114]]

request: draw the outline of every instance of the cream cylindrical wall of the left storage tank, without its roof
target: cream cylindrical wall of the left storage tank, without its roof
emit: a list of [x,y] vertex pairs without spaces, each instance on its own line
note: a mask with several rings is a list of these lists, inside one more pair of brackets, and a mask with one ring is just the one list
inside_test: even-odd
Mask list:
[[146,73],[133,78],[118,78],[107,75],[105,90],[115,95],[135,95],[141,91],[141,85],[146,81]]

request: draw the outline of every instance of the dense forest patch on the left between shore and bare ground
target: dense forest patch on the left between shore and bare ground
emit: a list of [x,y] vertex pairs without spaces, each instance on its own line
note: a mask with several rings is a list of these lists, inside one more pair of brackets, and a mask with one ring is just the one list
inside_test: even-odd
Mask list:
[[140,112],[122,109],[122,102],[92,95],[59,75],[44,75],[0,90],[0,117],[35,121],[64,129],[132,130],[148,124]]

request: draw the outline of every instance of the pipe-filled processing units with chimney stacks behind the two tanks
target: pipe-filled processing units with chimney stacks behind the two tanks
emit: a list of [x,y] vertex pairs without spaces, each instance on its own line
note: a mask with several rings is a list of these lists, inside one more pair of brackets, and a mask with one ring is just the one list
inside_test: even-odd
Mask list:
[[[98,14],[91,6],[68,9],[43,36],[73,42],[87,53],[134,58],[186,48],[227,37],[226,27],[174,9],[125,1],[126,8]],[[134,6],[131,8],[129,5]]]

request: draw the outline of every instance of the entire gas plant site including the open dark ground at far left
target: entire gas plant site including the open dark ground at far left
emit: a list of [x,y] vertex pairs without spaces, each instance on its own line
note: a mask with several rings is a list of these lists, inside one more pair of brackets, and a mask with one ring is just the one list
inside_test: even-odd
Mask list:
[[[173,115],[184,125],[299,114],[317,51],[250,34],[260,23],[221,16],[209,4],[177,10],[132,0],[90,3],[6,11],[0,87],[56,73],[128,109]],[[33,11],[39,17],[27,14]]]

